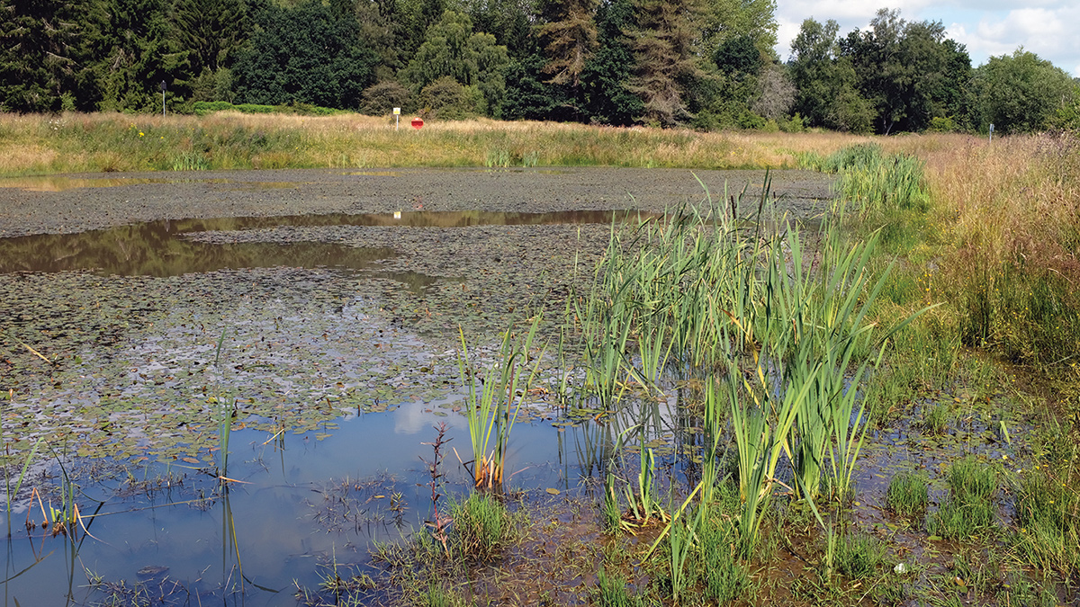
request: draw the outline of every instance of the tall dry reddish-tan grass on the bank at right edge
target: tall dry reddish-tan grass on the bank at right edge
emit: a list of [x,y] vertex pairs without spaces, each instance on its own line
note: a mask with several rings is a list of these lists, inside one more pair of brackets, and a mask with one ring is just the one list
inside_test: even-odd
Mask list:
[[1065,370],[1080,358],[1080,140],[942,135],[927,162],[943,286],[964,342]]

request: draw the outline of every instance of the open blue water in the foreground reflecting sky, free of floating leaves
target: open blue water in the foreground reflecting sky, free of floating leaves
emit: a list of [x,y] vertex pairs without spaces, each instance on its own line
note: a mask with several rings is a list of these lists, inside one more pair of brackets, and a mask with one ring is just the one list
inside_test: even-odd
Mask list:
[[[318,431],[278,440],[267,432],[234,432],[228,474],[237,482],[227,495],[183,460],[95,461],[96,474],[117,472],[111,467],[120,471],[119,480],[83,485],[86,496],[79,499],[90,534],[100,541],[80,534],[72,570],[69,540],[41,529],[27,534],[22,528],[26,514],[17,512],[8,577],[29,569],[5,584],[8,604],[82,604],[99,596],[85,588],[85,571],[132,585],[145,581],[140,569],[163,567],[167,571],[161,576],[183,589],[173,598],[184,604],[192,593],[192,605],[199,604],[194,594],[203,602],[225,597],[229,604],[294,605],[294,580],[316,588],[332,559],[341,567],[367,563],[372,540],[396,541],[432,517],[420,458],[432,457],[431,447],[421,443],[434,440],[434,424],[449,427],[444,451],[469,450],[460,416],[435,415],[431,403],[388,404],[393,410],[342,419],[322,440],[315,439]],[[561,436],[576,432],[582,431],[554,431],[541,422],[516,428],[509,466],[524,471],[510,485],[532,493],[576,490],[576,456],[558,446]],[[459,493],[469,481],[453,451],[444,455],[446,485]],[[172,487],[158,488],[158,478]],[[104,502],[99,511],[95,500]]]

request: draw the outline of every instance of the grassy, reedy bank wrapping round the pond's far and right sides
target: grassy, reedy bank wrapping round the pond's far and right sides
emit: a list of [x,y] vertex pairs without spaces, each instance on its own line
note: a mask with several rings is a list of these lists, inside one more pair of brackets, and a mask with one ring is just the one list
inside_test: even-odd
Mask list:
[[[597,267],[583,269],[595,276],[590,286],[529,310],[505,331],[494,363],[475,362],[462,333],[473,487],[442,497],[450,464],[440,432],[426,459],[428,532],[377,545],[381,576],[335,567],[325,586],[298,598],[362,604],[377,588],[376,596],[416,605],[489,604],[514,601],[523,570],[586,582],[573,592],[532,586],[530,602],[552,605],[1050,606],[1080,596],[1075,135],[3,116],[0,158],[5,176],[394,166],[835,173],[836,201],[820,224],[769,216],[765,198],[705,199],[665,221],[612,229]],[[501,461],[540,377],[559,387],[565,410],[610,420],[603,483],[557,513],[502,490]],[[688,462],[678,475],[658,466],[649,430],[657,403],[672,399],[690,436],[678,445]],[[65,521],[73,524],[71,513]],[[558,545],[541,551],[544,538]]]

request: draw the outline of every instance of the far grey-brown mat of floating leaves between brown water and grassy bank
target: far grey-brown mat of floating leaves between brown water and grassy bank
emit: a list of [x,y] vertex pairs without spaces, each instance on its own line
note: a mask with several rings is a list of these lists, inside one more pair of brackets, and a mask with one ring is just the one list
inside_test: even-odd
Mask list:
[[[79,232],[156,219],[411,211],[660,212],[747,189],[764,171],[395,168],[80,174],[0,179],[0,237]],[[694,178],[697,176],[697,178]],[[832,177],[770,173],[793,214],[814,212]]]

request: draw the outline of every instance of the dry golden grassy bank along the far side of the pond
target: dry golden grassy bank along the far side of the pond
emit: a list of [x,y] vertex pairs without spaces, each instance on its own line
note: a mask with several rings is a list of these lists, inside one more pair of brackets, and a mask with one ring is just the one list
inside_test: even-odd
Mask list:
[[[390,166],[794,166],[784,137],[537,122],[221,112],[0,116],[0,175]],[[797,146],[801,147],[801,146]]]

